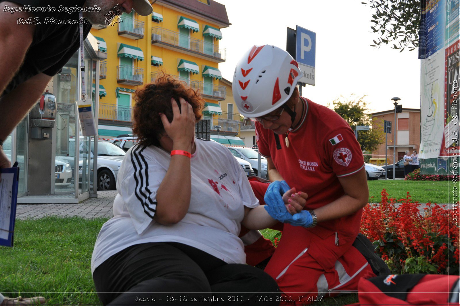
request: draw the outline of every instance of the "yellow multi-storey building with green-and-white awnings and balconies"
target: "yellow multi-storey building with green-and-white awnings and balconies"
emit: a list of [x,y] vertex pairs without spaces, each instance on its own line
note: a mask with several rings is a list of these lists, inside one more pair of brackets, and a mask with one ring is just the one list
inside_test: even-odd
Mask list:
[[107,57],[99,73],[99,136],[132,132],[133,93],[160,71],[200,89],[212,134],[220,125],[220,135],[236,136],[239,114],[233,102],[225,103],[233,101],[231,83],[219,81],[218,64],[225,61],[219,29],[230,26],[225,6],[213,0],[157,0],[152,6],[151,16],[123,13],[118,23],[91,30],[99,56]]

